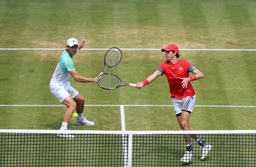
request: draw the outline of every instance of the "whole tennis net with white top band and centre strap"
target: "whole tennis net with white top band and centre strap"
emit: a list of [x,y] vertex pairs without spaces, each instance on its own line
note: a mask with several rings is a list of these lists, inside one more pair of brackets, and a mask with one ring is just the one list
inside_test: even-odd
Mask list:
[[0,130],[0,166],[183,166],[184,134],[200,134],[212,150],[193,144],[189,166],[256,166],[256,130],[78,131]]

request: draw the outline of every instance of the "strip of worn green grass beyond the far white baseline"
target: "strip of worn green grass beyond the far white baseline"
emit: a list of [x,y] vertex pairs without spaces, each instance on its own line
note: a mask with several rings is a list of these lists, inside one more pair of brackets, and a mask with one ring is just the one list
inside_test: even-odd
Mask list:
[[1,47],[251,48],[255,1],[1,1]]

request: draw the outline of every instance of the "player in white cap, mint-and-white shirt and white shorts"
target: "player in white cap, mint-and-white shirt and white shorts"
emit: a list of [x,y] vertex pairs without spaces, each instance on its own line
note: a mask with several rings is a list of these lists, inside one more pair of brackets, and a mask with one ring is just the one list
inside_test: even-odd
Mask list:
[[[66,50],[60,55],[60,60],[56,66],[56,69],[50,79],[50,92],[58,99],[58,102],[65,104],[68,109],[66,110],[60,130],[67,130],[69,120],[73,115],[73,112],[77,110],[78,117],[75,120],[76,125],[93,126],[95,123],[87,120],[83,116],[83,109],[85,104],[85,98],[75,90],[69,82],[69,77],[75,79],[75,81],[88,83],[97,82],[97,77],[84,77],[77,73],[75,69],[73,56],[85,46],[86,39],[83,39],[79,44],[77,39],[70,38],[67,40]],[[67,137],[67,136],[59,136]],[[72,137],[72,136],[71,136]]]

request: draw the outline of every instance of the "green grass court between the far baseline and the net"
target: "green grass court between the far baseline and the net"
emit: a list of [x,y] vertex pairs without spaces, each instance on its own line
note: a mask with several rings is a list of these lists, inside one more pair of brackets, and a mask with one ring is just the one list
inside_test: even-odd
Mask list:
[[[61,51],[1,51],[1,70],[8,71],[0,74],[1,104],[58,104],[48,90],[48,83],[59,53]],[[81,51],[75,55],[77,71],[90,77],[98,75],[103,64],[103,53],[104,51]],[[256,75],[253,72],[253,51],[246,52],[247,55],[243,51],[181,53],[183,58],[193,62],[205,75],[204,79],[193,82],[197,92],[196,105],[255,106]],[[164,55],[159,51],[124,51],[120,65],[110,70],[123,79],[136,83],[153,73],[163,59]],[[159,77],[142,90],[130,87],[112,91],[101,90],[95,83],[76,83],[72,78],[71,84],[85,96],[85,104],[171,105],[165,76]],[[1,128],[58,129],[65,107],[1,107],[1,111],[2,115],[5,114],[0,117]],[[95,120],[97,126],[77,128],[71,124],[71,129],[120,130],[120,108],[86,107],[85,111],[87,117]],[[125,113],[128,130],[179,130],[172,107],[127,107]],[[39,120],[31,119],[30,115]],[[255,129],[251,119],[254,115],[255,108],[195,108],[191,124],[198,130]],[[141,116],[143,120],[136,120]],[[19,126],[7,124],[13,118],[21,118]],[[29,120],[32,120],[30,124]],[[150,122],[152,124],[148,125]]]

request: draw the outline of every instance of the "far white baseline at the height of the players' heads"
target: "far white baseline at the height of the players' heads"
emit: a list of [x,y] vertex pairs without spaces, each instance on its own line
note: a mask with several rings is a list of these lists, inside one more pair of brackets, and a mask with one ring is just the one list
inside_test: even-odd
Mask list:
[[[65,48],[0,48],[0,50],[43,50],[43,51],[58,51],[64,50]],[[84,48],[81,50],[108,50],[110,48]],[[120,48],[121,50],[128,50],[128,51],[161,51],[161,48]],[[256,51],[256,49],[207,49],[207,48],[184,48],[179,49],[181,51]]]

